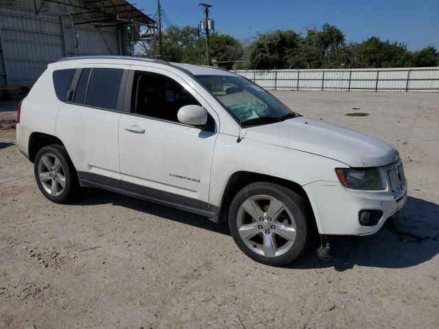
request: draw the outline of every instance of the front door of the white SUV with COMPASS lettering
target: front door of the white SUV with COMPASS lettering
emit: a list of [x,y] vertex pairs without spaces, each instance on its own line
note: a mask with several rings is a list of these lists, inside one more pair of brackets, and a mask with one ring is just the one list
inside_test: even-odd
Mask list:
[[[162,69],[131,67],[130,112],[119,121],[122,188],[174,204],[208,208],[218,122],[182,78]],[[210,114],[211,131],[178,122],[177,112],[198,104]]]

